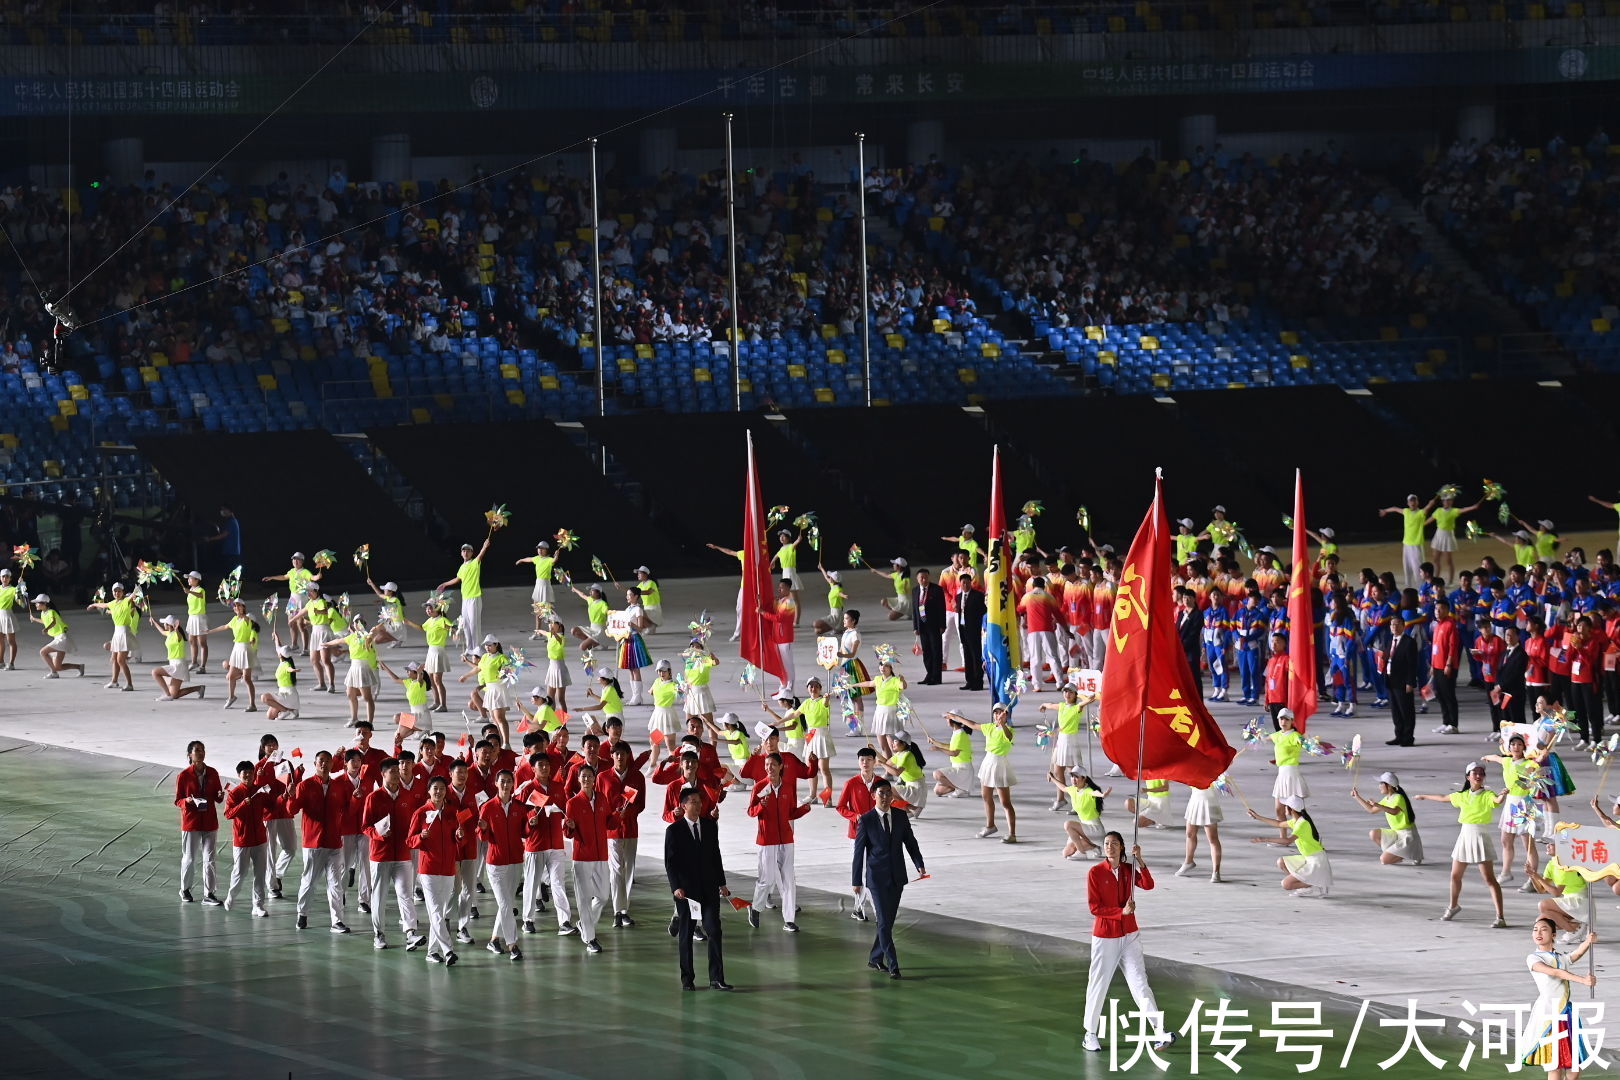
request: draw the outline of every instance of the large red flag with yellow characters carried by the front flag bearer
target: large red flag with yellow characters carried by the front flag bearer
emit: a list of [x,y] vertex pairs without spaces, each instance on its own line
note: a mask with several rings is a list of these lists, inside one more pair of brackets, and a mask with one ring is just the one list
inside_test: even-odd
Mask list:
[[1115,589],[1103,669],[1102,743],[1128,777],[1209,787],[1238,756],[1197,693],[1176,633],[1163,479]]

